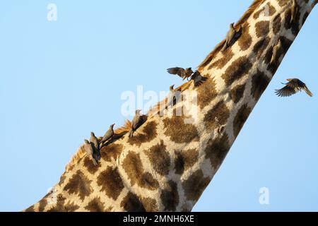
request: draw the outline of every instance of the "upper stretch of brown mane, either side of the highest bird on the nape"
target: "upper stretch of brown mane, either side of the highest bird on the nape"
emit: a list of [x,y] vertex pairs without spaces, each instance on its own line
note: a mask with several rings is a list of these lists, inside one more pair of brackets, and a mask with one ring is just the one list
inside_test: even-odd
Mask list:
[[[240,18],[240,20],[237,21],[237,23],[235,24],[235,28],[238,28],[241,25],[243,25],[249,19],[249,16],[252,15],[252,13],[255,11],[255,9],[257,9],[261,4],[263,4],[264,1],[265,0],[253,1],[252,5],[249,6],[247,11]],[[316,0],[316,1],[318,1],[318,0]],[[216,56],[216,54],[218,52],[220,52],[220,50],[223,48],[224,43],[225,43],[225,39],[223,39],[220,43],[218,43],[216,45],[216,47],[212,50],[212,52],[210,54],[208,54],[208,57],[206,57],[206,59],[204,59],[204,61],[198,66],[198,71],[201,71],[206,65],[208,65],[211,62],[213,57]]]

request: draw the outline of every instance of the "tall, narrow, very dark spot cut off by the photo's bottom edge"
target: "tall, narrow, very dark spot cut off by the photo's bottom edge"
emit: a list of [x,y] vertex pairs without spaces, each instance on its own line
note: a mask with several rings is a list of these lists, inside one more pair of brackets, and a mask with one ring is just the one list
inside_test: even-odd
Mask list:
[[170,180],[163,191],[161,191],[160,199],[163,203],[164,211],[175,211],[179,204],[179,194],[177,183]]

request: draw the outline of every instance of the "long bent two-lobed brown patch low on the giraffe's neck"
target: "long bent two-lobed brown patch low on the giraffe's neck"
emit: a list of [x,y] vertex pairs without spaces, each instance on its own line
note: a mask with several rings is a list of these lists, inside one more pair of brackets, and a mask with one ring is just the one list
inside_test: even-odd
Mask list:
[[158,181],[155,180],[150,173],[144,172],[139,154],[132,152],[128,153],[122,163],[122,166],[130,179],[131,186],[138,184],[145,189],[158,189]]

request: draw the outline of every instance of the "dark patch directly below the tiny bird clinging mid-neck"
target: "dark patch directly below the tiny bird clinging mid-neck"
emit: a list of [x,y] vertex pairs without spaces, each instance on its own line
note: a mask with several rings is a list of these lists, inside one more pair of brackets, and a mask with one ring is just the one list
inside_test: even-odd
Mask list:
[[228,134],[218,136],[216,139],[211,138],[206,145],[206,159],[210,160],[213,168],[217,168],[224,160],[230,150]]

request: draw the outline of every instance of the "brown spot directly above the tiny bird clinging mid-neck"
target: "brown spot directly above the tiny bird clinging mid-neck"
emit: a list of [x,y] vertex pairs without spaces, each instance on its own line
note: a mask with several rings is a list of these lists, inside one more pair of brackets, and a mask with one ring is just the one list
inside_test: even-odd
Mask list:
[[[230,117],[230,110],[226,107],[223,100],[220,100],[212,109],[206,112],[204,123],[207,129],[216,129],[219,124],[223,125]],[[216,121],[218,119],[218,122]]]

